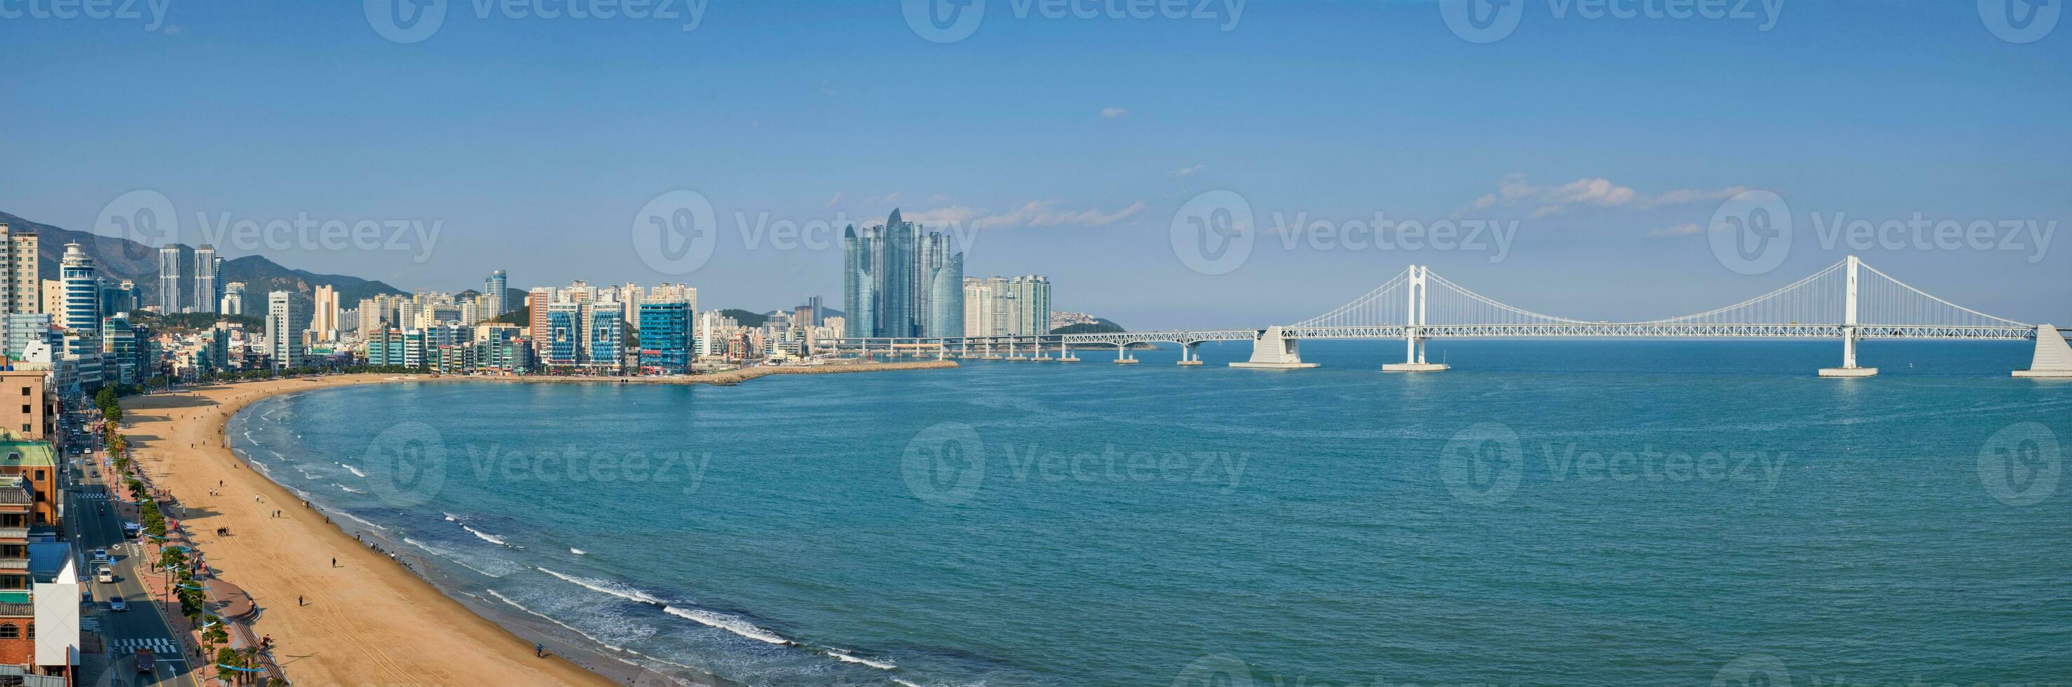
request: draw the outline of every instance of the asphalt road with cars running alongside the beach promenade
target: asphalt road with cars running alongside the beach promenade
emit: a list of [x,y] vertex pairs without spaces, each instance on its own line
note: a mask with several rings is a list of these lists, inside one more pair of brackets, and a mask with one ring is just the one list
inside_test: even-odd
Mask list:
[[[195,679],[189,675],[191,660],[182,654],[180,644],[172,637],[172,625],[151,602],[139,577],[149,575],[155,561],[145,561],[147,546],[122,538],[122,519],[116,517],[112,495],[104,482],[106,474],[108,468],[95,464],[95,457],[81,457],[81,468],[73,474],[77,486],[64,495],[73,542],[79,548],[79,559],[85,561],[81,573],[87,575],[87,586],[93,590],[93,608],[81,613],[79,625],[89,631],[97,627],[97,633],[108,639],[114,685],[195,687]],[[99,565],[91,563],[95,548],[108,548],[108,557],[114,559],[110,565],[116,573],[114,584],[93,577],[99,571]],[[128,610],[108,610],[108,598],[118,594],[128,600]],[[157,668],[149,675],[139,675],[135,668],[137,648],[151,648],[157,656]]]

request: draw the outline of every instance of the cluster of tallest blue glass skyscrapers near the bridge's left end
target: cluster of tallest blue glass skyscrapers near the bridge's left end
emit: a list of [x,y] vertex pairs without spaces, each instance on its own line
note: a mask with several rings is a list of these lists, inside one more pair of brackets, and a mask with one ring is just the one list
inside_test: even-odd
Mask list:
[[893,209],[883,226],[841,232],[841,304],[850,337],[961,337],[963,252]]

